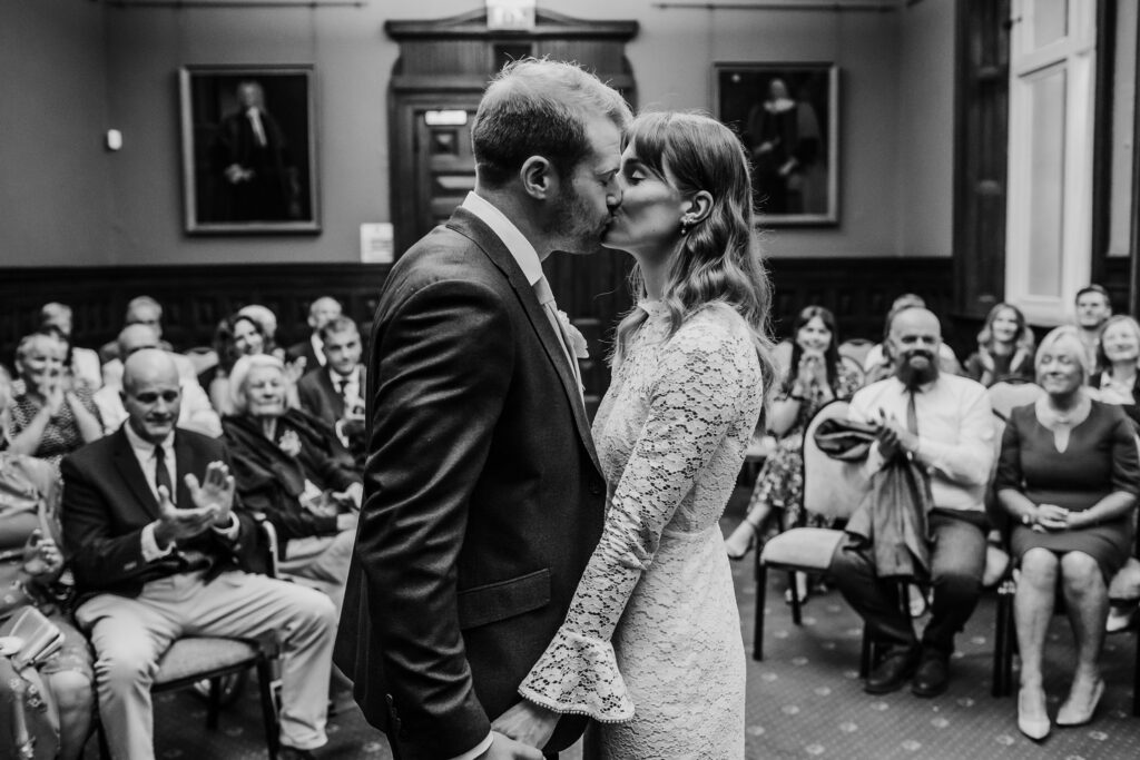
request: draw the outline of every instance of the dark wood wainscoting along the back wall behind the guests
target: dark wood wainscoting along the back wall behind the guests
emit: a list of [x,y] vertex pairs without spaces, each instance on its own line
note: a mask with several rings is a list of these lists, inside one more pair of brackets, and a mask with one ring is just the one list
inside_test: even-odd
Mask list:
[[[872,340],[881,335],[883,314],[901,293],[918,293],[937,313],[951,313],[950,259],[767,263],[774,286],[773,327],[781,337],[791,330],[796,313],[813,303],[836,313],[844,337]],[[48,301],[72,307],[76,343],[91,348],[115,337],[127,302],[141,294],[163,304],[164,336],[181,349],[209,345],[218,321],[247,303],[274,310],[278,344],[308,335],[309,303],[320,295],[339,300],[367,328],[386,273],[386,265],[355,263],[0,269],[0,361],[11,366],[16,342],[34,329],[39,308]],[[952,320],[945,321],[947,341],[959,350]]]

